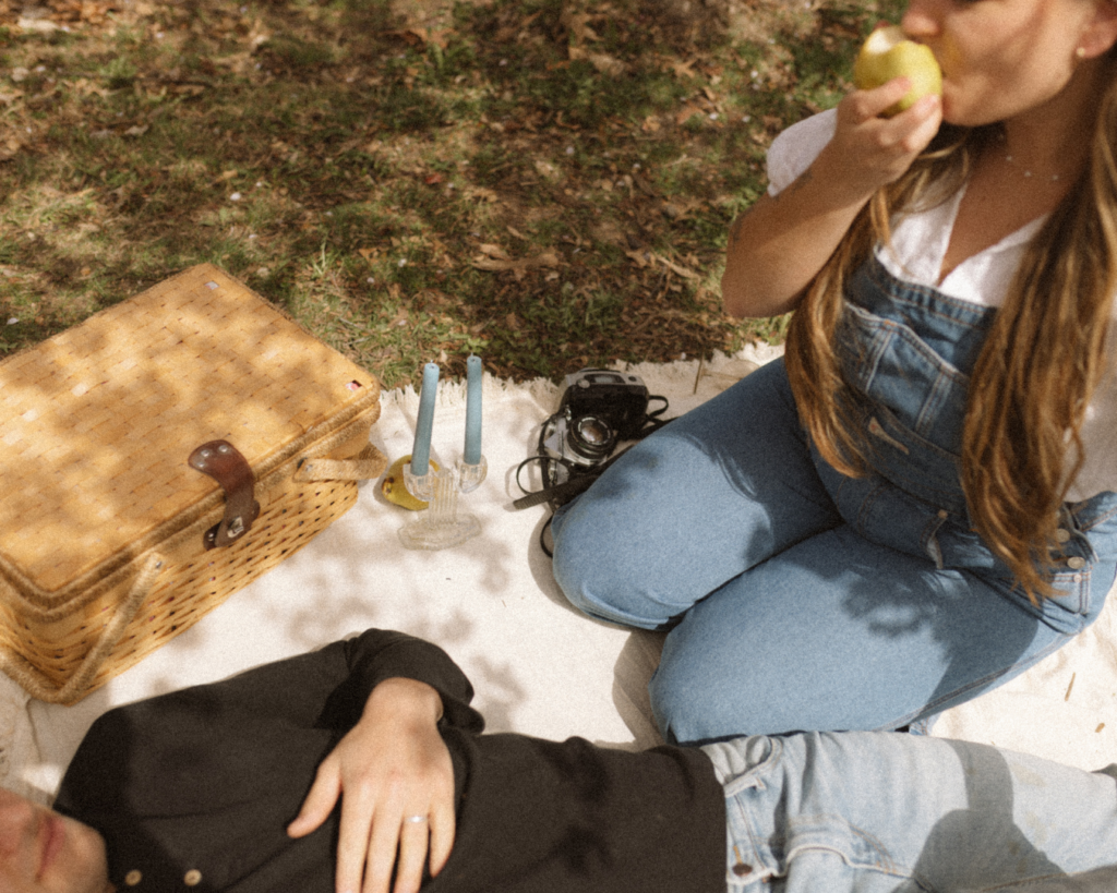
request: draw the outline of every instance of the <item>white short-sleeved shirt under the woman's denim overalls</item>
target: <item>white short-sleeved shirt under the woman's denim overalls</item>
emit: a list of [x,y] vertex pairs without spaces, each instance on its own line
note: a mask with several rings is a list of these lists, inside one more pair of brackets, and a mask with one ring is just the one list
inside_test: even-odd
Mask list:
[[[794,182],[833,137],[837,112],[829,109],[793,124],[768,148],[768,193],[779,194]],[[899,279],[937,288],[944,295],[984,307],[999,307],[1012,282],[1024,249],[1043,225],[1033,220],[996,244],[966,258],[939,282],[938,272],[949,243],[954,219],[965,188],[928,211],[892,220],[892,246],[877,246],[877,258]],[[1114,319],[1117,320],[1117,301]],[[1111,327],[1110,339],[1115,337]],[[1068,491],[1068,499],[1088,499],[1117,490],[1117,351],[1110,349],[1110,369],[1094,394],[1082,423],[1086,462]]]

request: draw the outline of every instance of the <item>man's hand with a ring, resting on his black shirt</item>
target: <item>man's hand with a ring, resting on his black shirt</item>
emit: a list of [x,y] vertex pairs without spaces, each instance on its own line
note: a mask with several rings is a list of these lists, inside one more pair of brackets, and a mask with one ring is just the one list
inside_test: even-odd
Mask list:
[[[411,679],[389,679],[369,695],[360,722],[322,761],[298,817],[303,837],[342,798],[338,893],[414,893],[430,848],[438,874],[454,846],[454,766],[438,733],[442,701]],[[363,877],[363,883],[362,883]]]

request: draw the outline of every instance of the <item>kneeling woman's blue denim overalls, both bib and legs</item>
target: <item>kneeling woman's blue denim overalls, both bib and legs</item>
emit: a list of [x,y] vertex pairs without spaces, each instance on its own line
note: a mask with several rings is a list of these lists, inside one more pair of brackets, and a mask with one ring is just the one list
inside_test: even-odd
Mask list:
[[991,311],[875,262],[850,298],[844,374],[873,473],[820,459],[775,361],[555,513],[570,602],[670,630],[650,685],[669,741],[925,723],[1068,642],[1113,584],[1117,493],[1065,507],[1061,595],[1040,607],[973,532],[957,453]]

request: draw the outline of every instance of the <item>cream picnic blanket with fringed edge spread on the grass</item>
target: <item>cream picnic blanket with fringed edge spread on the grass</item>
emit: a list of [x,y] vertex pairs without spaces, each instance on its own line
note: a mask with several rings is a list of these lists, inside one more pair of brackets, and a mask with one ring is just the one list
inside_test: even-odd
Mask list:
[[[777,351],[632,368],[667,416],[698,405]],[[221,679],[370,626],[442,645],[477,689],[493,731],[546,738],[580,734],[600,743],[660,742],[646,685],[660,636],[586,620],[565,602],[538,545],[545,507],[514,511],[514,469],[535,452],[540,425],[560,388],[486,376],[484,452],[489,474],[459,510],[481,532],[442,551],[411,551],[399,528],[413,515],[389,503],[379,482],[293,558],[233,595],[166,646],[80,703],[29,700],[0,675],[0,784],[48,799],[93,720],[109,707]],[[461,453],[465,400],[443,383],[433,455]],[[389,459],[411,451],[418,400],[386,393],[372,440]],[[529,473],[525,484],[538,484]],[[1002,689],[942,717],[935,734],[992,742],[1097,769],[1117,760],[1117,599],[1083,635]]]

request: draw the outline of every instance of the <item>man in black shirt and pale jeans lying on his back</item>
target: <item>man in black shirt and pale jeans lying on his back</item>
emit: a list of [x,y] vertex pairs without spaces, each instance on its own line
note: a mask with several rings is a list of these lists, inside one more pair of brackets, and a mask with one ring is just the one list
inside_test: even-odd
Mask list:
[[118,708],[0,891],[1117,890],[1117,767],[896,732],[632,753],[481,734],[439,647],[370,630]]

